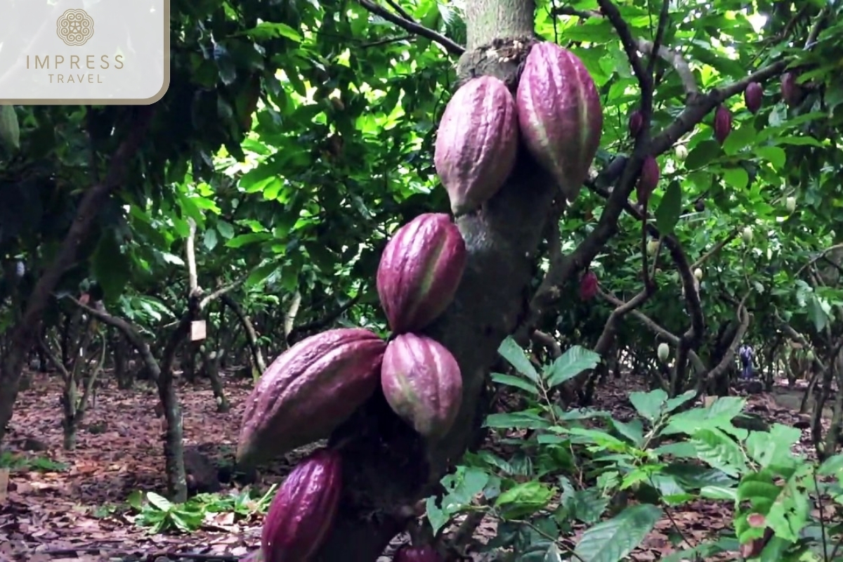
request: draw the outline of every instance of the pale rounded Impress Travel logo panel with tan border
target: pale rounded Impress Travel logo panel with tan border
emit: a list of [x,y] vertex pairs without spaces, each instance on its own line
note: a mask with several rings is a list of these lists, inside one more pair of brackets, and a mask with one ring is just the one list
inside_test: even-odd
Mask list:
[[0,104],[153,104],[169,86],[169,0],[0,0]]

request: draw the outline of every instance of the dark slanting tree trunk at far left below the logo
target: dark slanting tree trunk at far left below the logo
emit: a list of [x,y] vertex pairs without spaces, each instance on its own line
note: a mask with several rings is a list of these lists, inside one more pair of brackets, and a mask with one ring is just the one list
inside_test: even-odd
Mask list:
[[136,118],[132,121],[132,130],[111,158],[108,174],[102,182],[91,187],[83,195],[76,218],[73,219],[67,236],[56,253],[56,258],[35,283],[32,294],[27,298],[23,317],[12,328],[8,351],[0,357],[0,443],[3,443],[6,426],[12,419],[14,402],[18,398],[20,375],[23,372],[26,356],[35,345],[44,309],[58,281],[67,268],[76,261],[78,248],[88,237],[94,224],[94,217],[105,206],[105,201],[108,200],[111,191],[123,183],[130,163],[146,136],[152,120],[153,107],[153,105],[141,105],[135,110]]

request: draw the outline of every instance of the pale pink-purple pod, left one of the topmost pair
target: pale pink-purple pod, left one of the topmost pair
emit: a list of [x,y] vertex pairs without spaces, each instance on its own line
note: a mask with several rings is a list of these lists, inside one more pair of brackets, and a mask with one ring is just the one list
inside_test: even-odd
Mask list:
[[472,78],[445,106],[433,165],[451,211],[475,211],[503,187],[518,155],[515,99],[493,76]]

